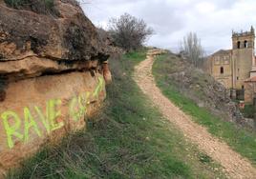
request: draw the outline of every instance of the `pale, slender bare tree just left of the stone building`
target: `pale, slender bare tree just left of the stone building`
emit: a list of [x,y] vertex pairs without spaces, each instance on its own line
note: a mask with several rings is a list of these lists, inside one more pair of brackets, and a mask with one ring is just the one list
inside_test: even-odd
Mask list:
[[197,33],[190,32],[183,38],[181,52],[183,52],[187,60],[196,67],[203,65],[204,50],[201,45],[201,39],[198,38]]

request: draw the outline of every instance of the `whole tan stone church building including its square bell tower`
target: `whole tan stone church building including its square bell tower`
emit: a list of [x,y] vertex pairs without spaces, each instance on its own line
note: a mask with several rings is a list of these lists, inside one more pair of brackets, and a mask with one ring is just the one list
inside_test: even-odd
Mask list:
[[219,50],[208,58],[210,74],[230,89],[232,97],[245,102],[252,102],[255,94],[251,88],[256,82],[254,41],[253,27],[245,32],[233,31],[232,50]]

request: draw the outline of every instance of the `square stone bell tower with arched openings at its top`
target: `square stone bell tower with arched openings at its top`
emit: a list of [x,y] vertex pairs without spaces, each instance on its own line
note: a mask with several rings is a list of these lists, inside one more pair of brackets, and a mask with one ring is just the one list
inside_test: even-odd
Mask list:
[[244,89],[244,82],[250,77],[250,71],[255,67],[254,57],[255,30],[232,32],[232,63],[233,88]]

